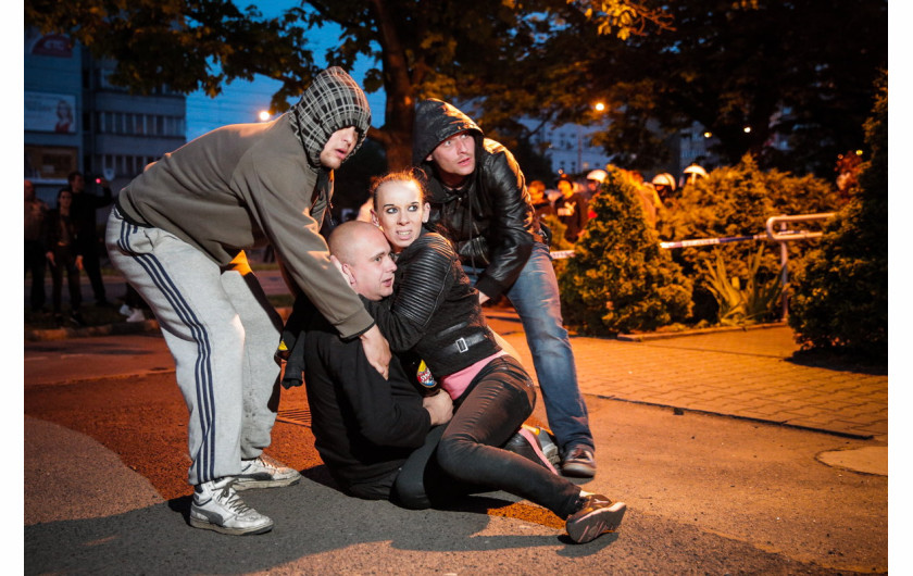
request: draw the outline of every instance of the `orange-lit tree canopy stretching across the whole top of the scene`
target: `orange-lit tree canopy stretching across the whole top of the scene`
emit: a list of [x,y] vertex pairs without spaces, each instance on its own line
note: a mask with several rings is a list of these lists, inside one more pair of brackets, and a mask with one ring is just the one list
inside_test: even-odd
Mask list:
[[[216,96],[261,74],[282,83],[274,111],[310,84],[309,36],[333,23],[341,34],[326,62],[367,59],[365,90],[385,91],[386,123],[370,137],[390,167],[409,164],[413,107],[427,97],[459,99],[509,146],[528,136],[524,117],[611,120],[600,141],[626,167],[659,159],[663,136],[691,122],[726,159],[833,165],[861,145],[871,80],[887,66],[886,18],[886,0],[307,0],[273,18],[215,0],[25,2],[26,25],[115,59],[113,83]],[[609,112],[595,115],[595,100]],[[789,158],[770,146],[775,133],[796,142]]]

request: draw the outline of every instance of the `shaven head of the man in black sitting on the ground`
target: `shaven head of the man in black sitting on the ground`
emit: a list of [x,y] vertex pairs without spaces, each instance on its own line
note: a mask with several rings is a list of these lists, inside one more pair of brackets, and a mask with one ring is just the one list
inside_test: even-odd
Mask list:
[[367,222],[350,221],[334,228],[327,243],[329,253],[358,293],[368,300],[380,300],[392,293],[397,265],[380,228]]

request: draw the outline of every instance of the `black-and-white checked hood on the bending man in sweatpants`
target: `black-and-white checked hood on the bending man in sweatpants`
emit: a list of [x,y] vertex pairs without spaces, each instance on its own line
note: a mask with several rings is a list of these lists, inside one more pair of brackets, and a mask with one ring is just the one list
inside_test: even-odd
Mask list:
[[349,154],[364,143],[371,127],[371,107],[358,83],[346,71],[333,66],[314,76],[314,82],[287,112],[295,136],[304,147],[308,162],[318,168],[321,152],[333,133],[354,126],[359,140]]

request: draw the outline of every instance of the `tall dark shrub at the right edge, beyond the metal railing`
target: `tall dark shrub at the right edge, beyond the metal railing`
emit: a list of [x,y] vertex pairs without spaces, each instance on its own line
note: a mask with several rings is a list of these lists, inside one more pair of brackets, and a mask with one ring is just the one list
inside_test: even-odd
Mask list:
[[865,124],[871,159],[849,204],[793,278],[789,325],[805,350],[888,354],[888,91]]

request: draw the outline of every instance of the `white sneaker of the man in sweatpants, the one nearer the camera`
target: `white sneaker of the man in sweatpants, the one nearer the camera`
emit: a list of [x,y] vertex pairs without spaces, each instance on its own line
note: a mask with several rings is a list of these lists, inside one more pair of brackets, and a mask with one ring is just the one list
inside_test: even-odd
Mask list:
[[273,529],[273,521],[245,504],[230,477],[197,485],[190,505],[190,526],[242,536]]

